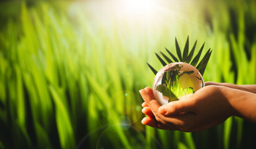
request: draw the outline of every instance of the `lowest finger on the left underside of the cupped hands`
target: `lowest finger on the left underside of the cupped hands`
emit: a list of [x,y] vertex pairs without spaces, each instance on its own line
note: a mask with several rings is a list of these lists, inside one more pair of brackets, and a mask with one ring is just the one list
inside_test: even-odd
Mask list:
[[141,120],[141,123],[144,125],[148,125],[150,127],[154,127],[156,129],[164,129],[164,130],[178,130],[176,127],[168,127],[165,126],[161,123],[159,123],[158,121],[156,121],[156,119],[150,119],[150,117],[144,117]]

